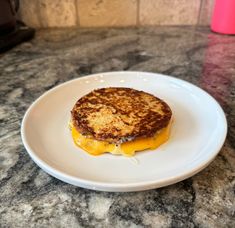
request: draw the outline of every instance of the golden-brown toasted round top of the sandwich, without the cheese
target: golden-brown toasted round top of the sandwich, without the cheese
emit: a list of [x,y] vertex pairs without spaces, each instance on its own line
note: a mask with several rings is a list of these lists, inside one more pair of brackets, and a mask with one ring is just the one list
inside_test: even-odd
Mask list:
[[81,97],[74,105],[72,122],[88,137],[123,143],[152,137],[171,119],[170,107],[161,99],[130,88],[102,88]]

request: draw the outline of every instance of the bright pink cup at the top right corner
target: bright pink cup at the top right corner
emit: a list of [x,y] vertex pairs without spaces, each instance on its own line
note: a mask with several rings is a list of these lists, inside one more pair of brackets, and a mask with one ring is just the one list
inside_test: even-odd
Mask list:
[[235,34],[235,0],[215,0],[211,30]]

